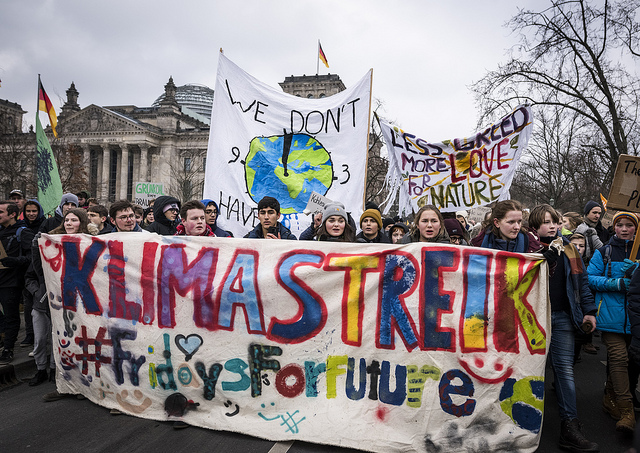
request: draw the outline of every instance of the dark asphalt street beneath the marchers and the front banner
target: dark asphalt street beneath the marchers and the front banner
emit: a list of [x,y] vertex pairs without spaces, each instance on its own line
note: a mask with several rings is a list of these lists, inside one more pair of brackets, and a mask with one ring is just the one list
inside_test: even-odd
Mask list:
[[[19,339],[22,339],[22,335]],[[605,380],[605,348],[600,338],[597,355],[582,353],[576,364],[578,413],[590,440],[598,442],[602,452],[626,452],[633,444],[629,436],[615,431],[615,421],[602,411]],[[42,396],[55,390],[53,383],[29,387],[27,380],[35,366],[27,357],[28,349],[16,349],[14,360],[18,380],[14,386],[0,387],[0,452],[257,452],[313,453],[355,452],[356,450],[306,442],[271,442],[251,436],[197,427],[176,430],[172,422],[158,422],[127,415],[110,415],[109,410],[76,397],[45,403]],[[555,392],[547,367],[545,413],[538,452],[560,452],[560,434]],[[639,414],[640,415],[640,414]],[[640,428],[639,428],[640,429]],[[462,450],[464,451],[464,450]]]

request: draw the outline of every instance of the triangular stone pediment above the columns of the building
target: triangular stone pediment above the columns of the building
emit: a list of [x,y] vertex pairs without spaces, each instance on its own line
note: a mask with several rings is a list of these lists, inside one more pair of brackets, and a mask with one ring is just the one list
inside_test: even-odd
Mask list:
[[66,118],[61,118],[58,123],[58,131],[70,135],[158,132],[154,126],[95,104]]

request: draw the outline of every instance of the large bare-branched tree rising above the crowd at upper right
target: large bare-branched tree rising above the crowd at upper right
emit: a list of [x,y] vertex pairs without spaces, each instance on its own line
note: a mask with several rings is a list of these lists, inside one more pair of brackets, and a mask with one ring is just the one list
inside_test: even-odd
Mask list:
[[523,102],[574,112],[584,128],[574,145],[601,157],[605,192],[618,157],[637,154],[640,137],[640,80],[619,63],[637,57],[637,9],[637,1],[552,0],[541,12],[520,11],[509,22],[520,34],[510,60],[473,85],[479,122]]

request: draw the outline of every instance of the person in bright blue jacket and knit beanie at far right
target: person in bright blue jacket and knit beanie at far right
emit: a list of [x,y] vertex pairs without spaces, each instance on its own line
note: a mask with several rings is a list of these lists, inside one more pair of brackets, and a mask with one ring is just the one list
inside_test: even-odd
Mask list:
[[[629,260],[638,218],[620,211],[613,217],[615,235],[593,254],[587,272],[589,286],[595,292],[597,325],[607,347],[608,375],[603,409],[617,419],[616,430],[635,430],[633,389],[629,378],[627,347],[631,342],[627,314],[627,290],[635,263]],[[634,373],[637,376],[637,372]]]

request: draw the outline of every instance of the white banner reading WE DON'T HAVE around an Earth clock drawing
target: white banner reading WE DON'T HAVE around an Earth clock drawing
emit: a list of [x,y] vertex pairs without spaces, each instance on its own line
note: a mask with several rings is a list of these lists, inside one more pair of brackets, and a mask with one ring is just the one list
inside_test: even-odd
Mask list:
[[225,229],[250,231],[258,202],[271,196],[298,235],[310,224],[302,212],[313,191],[360,216],[371,78],[369,71],[345,91],[307,99],[260,82],[220,54],[204,197],[218,202]]

